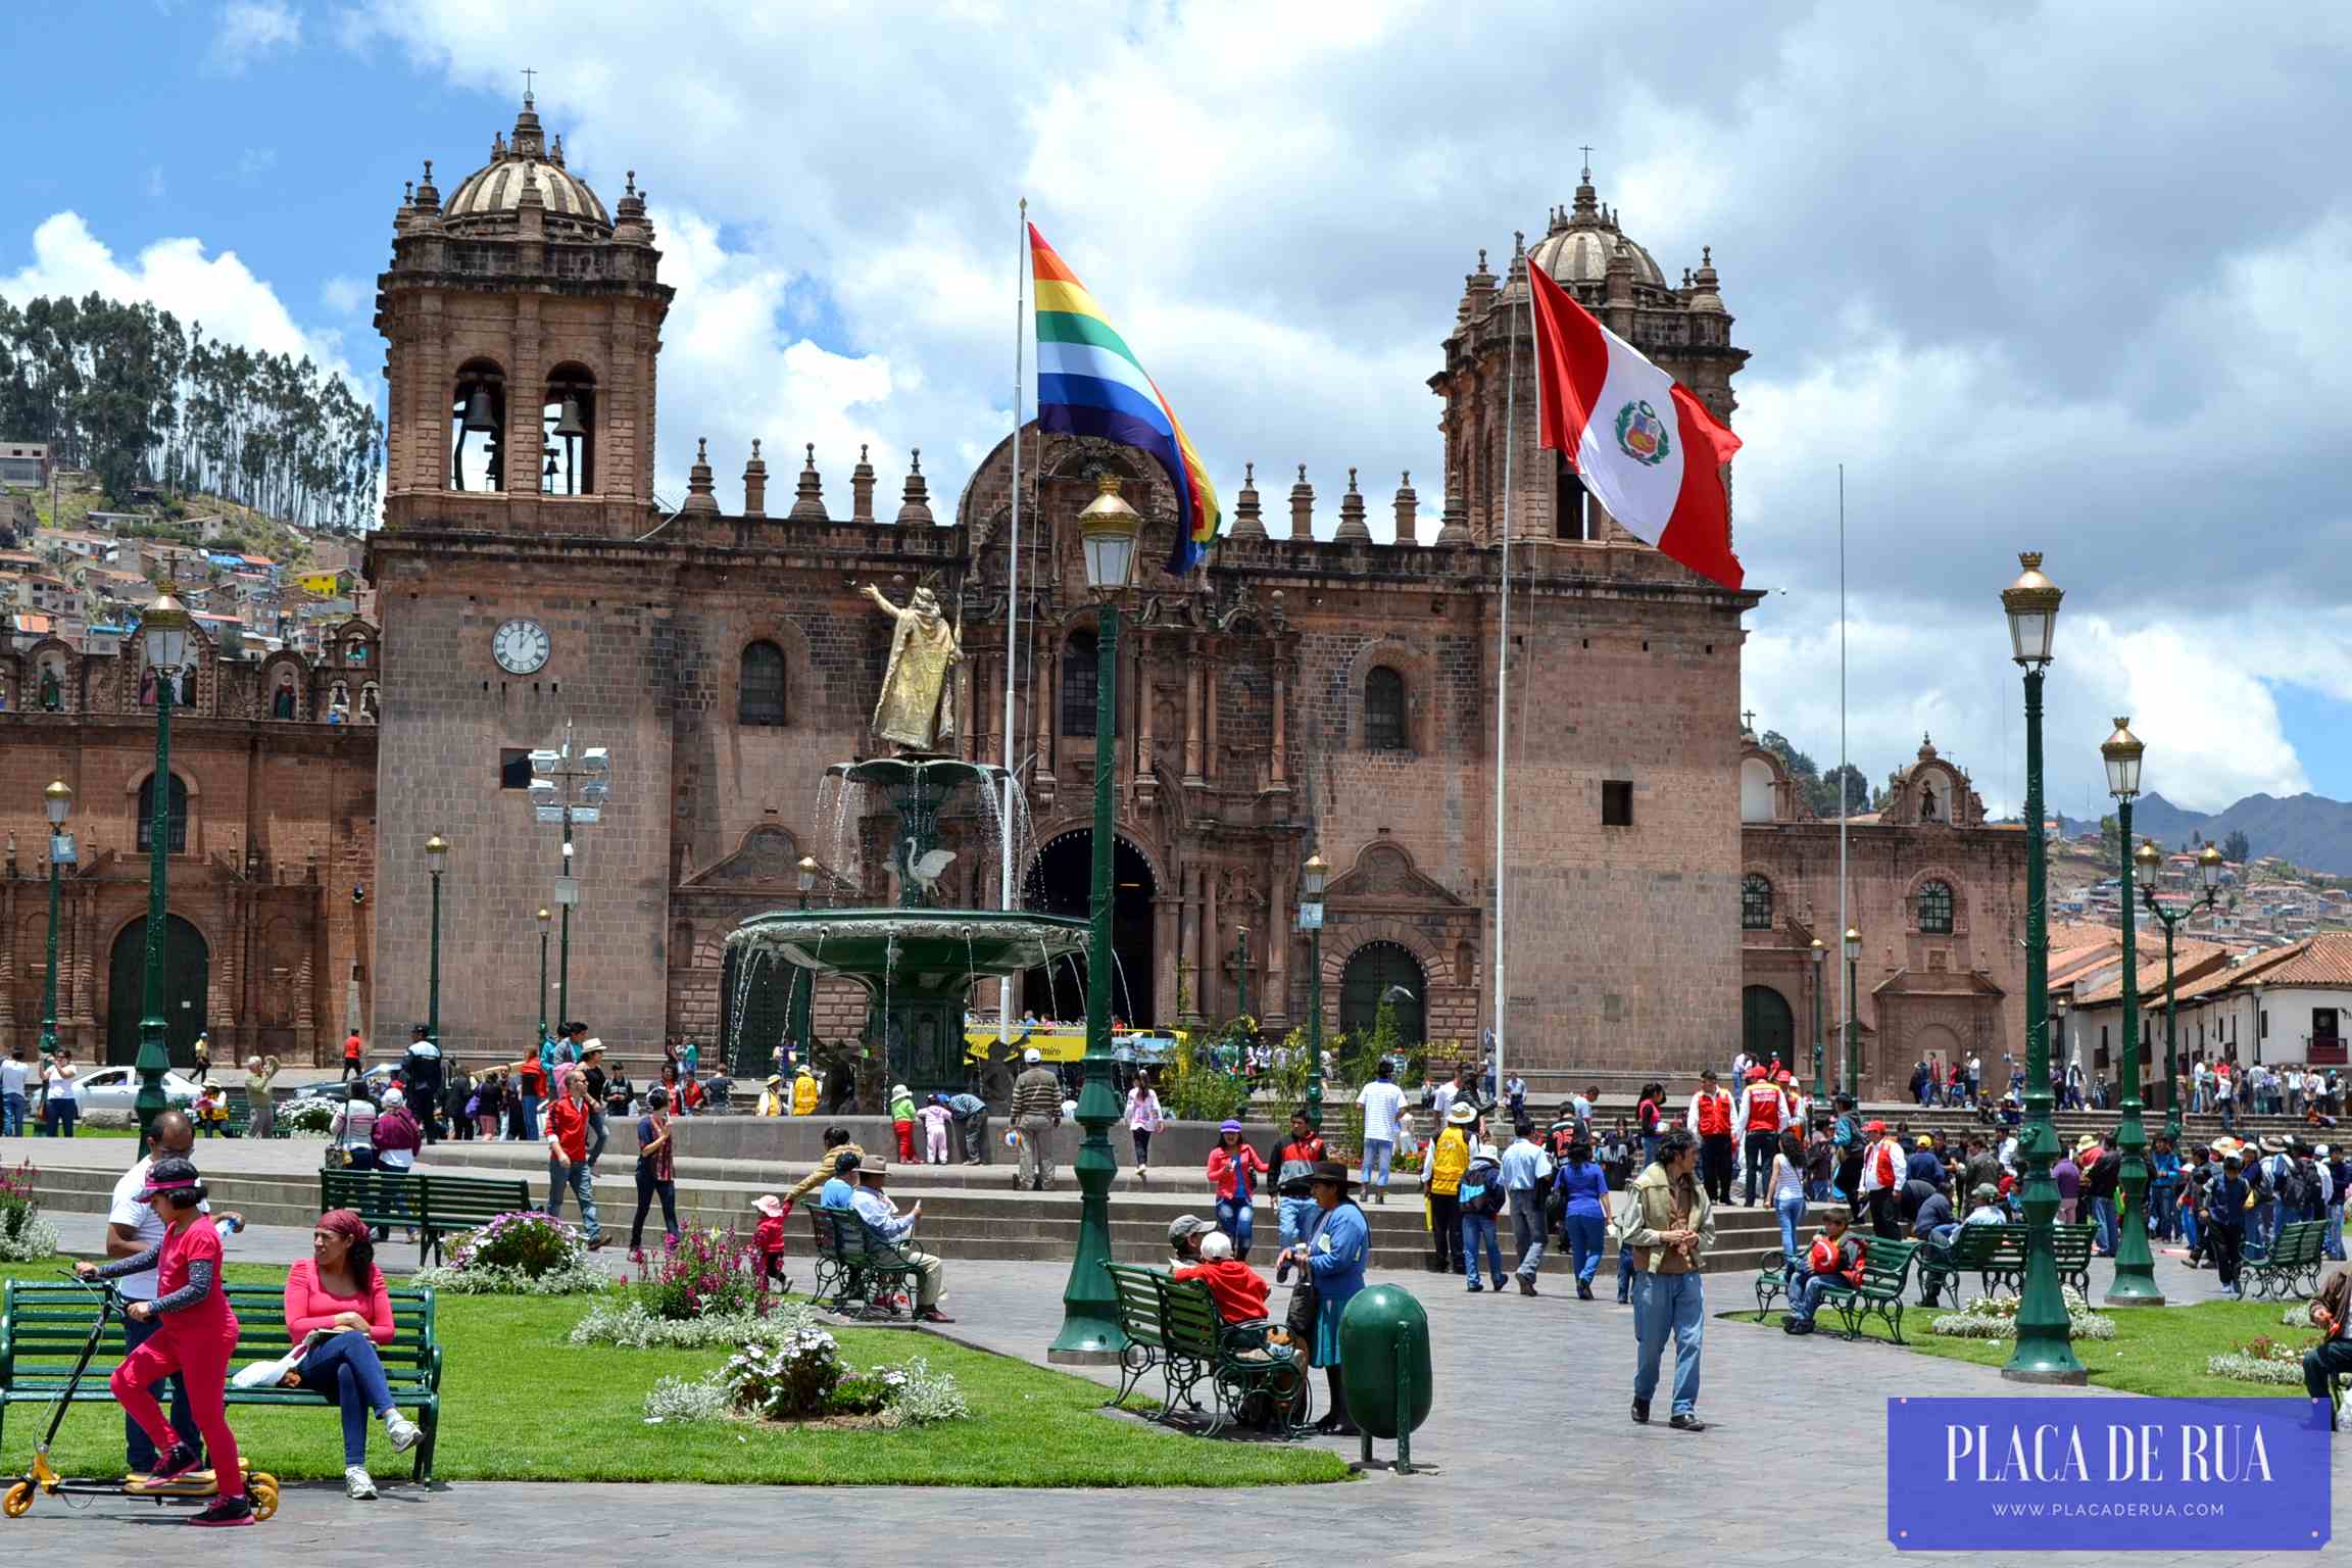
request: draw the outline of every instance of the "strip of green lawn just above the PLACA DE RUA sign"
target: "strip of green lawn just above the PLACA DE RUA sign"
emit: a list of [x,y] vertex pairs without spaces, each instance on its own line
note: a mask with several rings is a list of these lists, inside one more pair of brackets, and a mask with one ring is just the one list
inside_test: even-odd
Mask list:
[[[2314,1340],[2310,1328],[2286,1328],[2279,1324],[2284,1302],[2197,1302],[2192,1307],[2126,1307],[2105,1312],[2114,1319],[2112,1340],[2074,1340],[2074,1356],[2091,1373],[2091,1382],[2119,1394],[2161,1394],[2169,1399],[2303,1399],[2303,1385],[2239,1382],[2206,1373],[2206,1356],[2225,1354],[2256,1335],[2286,1340],[2305,1347]],[[1755,1312],[1726,1312],[1731,1324],[1752,1333],[1780,1333],[1783,1312],[1766,1314],[1757,1326]],[[2004,1366],[2013,1340],[1947,1340],[1929,1333],[1936,1312],[1905,1307],[1903,1342],[1924,1356],[1952,1361],[1976,1361],[1980,1366]],[[1837,1314],[1823,1307],[1816,1319],[1816,1338],[1842,1333]],[[1870,1319],[1863,1335],[1886,1342],[1886,1324]]]

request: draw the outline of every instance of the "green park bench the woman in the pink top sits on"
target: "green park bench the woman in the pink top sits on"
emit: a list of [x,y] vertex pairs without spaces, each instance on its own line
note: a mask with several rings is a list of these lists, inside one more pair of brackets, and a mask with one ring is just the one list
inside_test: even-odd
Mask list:
[[[247,1361],[275,1361],[287,1354],[292,1338],[285,1321],[282,1286],[226,1286],[228,1305],[238,1314],[238,1349],[230,1366]],[[433,1483],[433,1446],[440,1434],[440,1380],[442,1347],[433,1333],[433,1291],[393,1291],[393,1340],[376,1345],[383,1361],[383,1378],[393,1389],[393,1403],[416,1410],[421,1439],[416,1443],[414,1476]],[[89,1342],[89,1319],[99,1312],[99,1298],[71,1281],[9,1279],[0,1293],[0,1422],[16,1403],[47,1406],[73,1380],[73,1363]],[[122,1361],[122,1319],[115,1316],[99,1340],[99,1352],[82,1373],[73,1403],[115,1401],[106,1378]],[[318,1406],[334,1408],[318,1389],[268,1387],[226,1392],[230,1406]],[[336,1429],[322,1429],[320,1443],[341,1453]]]

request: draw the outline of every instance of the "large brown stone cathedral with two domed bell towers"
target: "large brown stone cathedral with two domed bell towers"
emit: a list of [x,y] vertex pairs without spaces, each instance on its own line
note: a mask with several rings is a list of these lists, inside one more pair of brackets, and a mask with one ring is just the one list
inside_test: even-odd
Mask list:
[[[1157,571],[1176,527],[1167,477],[1138,451],[1030,425],[1014,571],[1011,437],[953,498],[931,494],[917,451],[851,461],[779,430],[764,442],[774,473],[755,442],[722,501],[699,442],[682,503],[656,501],[670,287],[635,174],[607,207],[529,101],[447,197],[426,165],[376,292],[379,1013],[426,1011],[423,844],[440,835],[442,947],[461,954],[442,973],[452,1051],[510,1051],[546,1006],[628,1056],[666,1034],[708,1041],[722,1013],[741,1013],[739,1034],[764,1053],[783,1009],[767,980],[731,994],[734,924],[802,898],[804,856],[821,867],[818,900],[889,898],[887,816],[826,790],[828,766],[887,750],[868,719],[891,623],[868,583],[894,602],[931,588],[960,623],[955,748],[1011,757],[1025,790],[1014,898],[1082,912],[1103,670],[1075,517],[1117,475],[1145,517],[1148,576],[1115,654],[1115,1011],[1162,1027],[1249,1011],[1279,1032],[1319,987],[1331,1030],[1364,1027],[1385,994],[1409,1032],[1477,1041],[1496,1023],[1510,475],[1512,1056],[1625,1072],[1726,1058],[1743,961],[1740,611],[1759,595],[1635,541],[1536,447],[1531,381],[1517,402],[1510,388],[1515,367],[1531,376],[1529,266],[1731,418],[1748,355],[1712,256],[1670,280],[1585,172],[1501,273],[1479,254],[1432,346],[1437,517],[1399,473],[1378,501],[1395,515],[1383,543],[1367,487],[1395,468],[1350,470],[1338,489],[1263,454],[1209,564],[1178,581]],[[1331,489],[1338,527],[1315,538]],[[1287,534],[1265,527],[1268,505]],[[529,752],[567,733],[609,755],[609,802],[576,830],[569,865],[527,792]],[[943,875],[953,900],[995,905],[988,813],[967,809],[946,832],[960,851]],[[1312,853],[1331,865],[1319,969],[1296,929]],[[536,910],[567,867],[579,903],[550,985],[569,994],[541,1001]],[[1073,1018],[1077,985],[1037,971],[1011,1001]],[[847,987],[816,997],[828,1039],[861,1016]]]

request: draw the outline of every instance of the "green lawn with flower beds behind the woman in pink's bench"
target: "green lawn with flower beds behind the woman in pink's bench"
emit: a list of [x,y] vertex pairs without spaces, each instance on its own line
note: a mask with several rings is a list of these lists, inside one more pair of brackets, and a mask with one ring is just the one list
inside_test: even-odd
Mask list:
[[[49,1265],[0,1274],[52,1279]],[[278,1284],[282,1269],[230,1265],[235,1284]],[[445,1295],[440,1333],[442,1481],[748,1481],[786,1486],[1261,1486],[1345,1481],[1334,1453],[1296,1443],[1202,1441],[1103,1415],[1098,1382],[889,1328],[835,1331],[842,1361],[868,1368],[922,1354],[955,1373],[974,1420],[908,1432],[783,1432],[748,1422],[644,1425],[644,1394],[663,1375],[699,1378],[724,1349],[612,1349],[564,1340],[590,1298]],[[240,1448],[282,1479],[343,1474],[336,1413],[228,1410]],[[47,1406],[14,1406],[0,1474],[21,1474]],[[407,1474],[369,1425],[369,1469]],[[66,1474],[122,1467],[115,1406],[75,1406],[54,1460]]]

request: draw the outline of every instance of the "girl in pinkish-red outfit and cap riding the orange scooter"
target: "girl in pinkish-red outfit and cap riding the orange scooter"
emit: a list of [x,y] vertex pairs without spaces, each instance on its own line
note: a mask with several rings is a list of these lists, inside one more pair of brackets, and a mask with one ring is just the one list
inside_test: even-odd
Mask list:
[[78,1262],[73,1272],[82,1279],[118,1279],[155,1269],[155,1300],[125,1307],[134,1319],[160,1324],[158,1333],[134,1349],[115,1368],[111,1387],[122,1410],[155,1439],[155,1472],[148,1483],[186,1476],[198,1467],[198,1453],[181,1443],[162,1406],[148,1387],[179,1373],[188,1389],[188,1408],[195,1427],[205,1436],[212,1455],[219,1495],[195,1514],[195,1526],[247,1526],[254,1523],[252,1502],[245,1500],[245,1467],[238,1462],[238,1439],[228,1429],[221,1408],[221,1392],[228,1387],[228,1359],[238,1349],[238,1314],[228,1309],[221,1293],[221,1232],[212,1215],[200,1213],[205,1182],[193,1161],[158,1159],[148,1168],[139,1201],[162,1220],[162,1241],[136,1258],[113,1262]]

